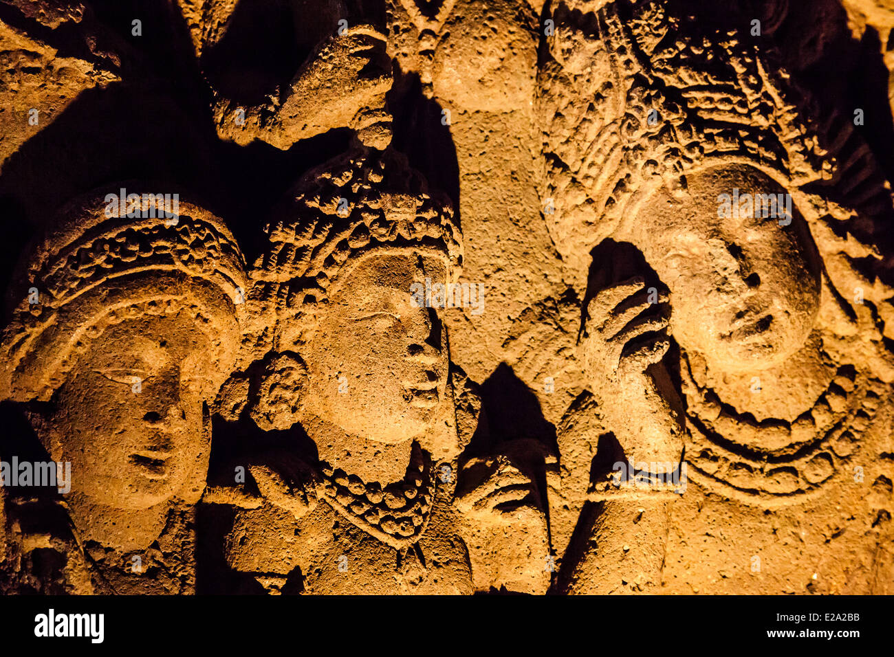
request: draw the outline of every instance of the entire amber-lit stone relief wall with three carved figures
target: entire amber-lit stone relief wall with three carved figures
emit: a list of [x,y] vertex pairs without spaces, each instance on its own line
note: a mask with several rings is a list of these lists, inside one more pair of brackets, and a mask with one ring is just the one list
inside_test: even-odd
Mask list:
[[0,4],[4,593],[891,592],[889,7],[153,11]]

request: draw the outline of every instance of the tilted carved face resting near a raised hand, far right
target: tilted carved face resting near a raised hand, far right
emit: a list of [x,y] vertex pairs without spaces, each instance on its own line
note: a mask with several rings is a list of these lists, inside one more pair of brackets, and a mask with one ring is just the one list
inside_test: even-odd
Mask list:
[[637,243],[671,290],[679,344],[721,371],[759,370],[780,364],[810,334],[819,309],[818,257],[793,206],[789,225],[780,225],[785,217],[748,215],[746,200],[738,206],[745,212],[724,205],[721,195],[734,190],[740,199],[785,193],[744,165],[690,175],[681,198],[662,192],[643,208]]

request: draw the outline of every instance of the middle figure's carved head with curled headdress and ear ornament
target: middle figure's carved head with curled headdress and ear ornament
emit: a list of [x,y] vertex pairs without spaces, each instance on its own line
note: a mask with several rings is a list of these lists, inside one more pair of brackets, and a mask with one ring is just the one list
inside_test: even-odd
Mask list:
[[446,332],[417,291],[460,265],[450,206],[388,152],[339,158],[291,198],[250,295],[275,307],[274,351],[291,356],[267,367],[253,416],[287,428],[311,415],[377,442],[426,434],[452,402]]

